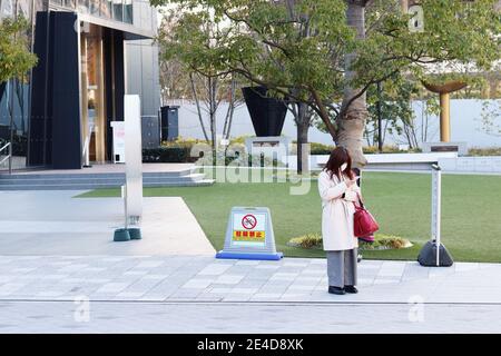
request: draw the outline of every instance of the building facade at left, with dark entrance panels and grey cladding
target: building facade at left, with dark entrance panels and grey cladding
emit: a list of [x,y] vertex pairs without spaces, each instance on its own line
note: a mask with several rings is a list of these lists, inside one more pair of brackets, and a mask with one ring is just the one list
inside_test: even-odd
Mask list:
[[0,88],[0,139],[16,168],[78,169],[112,160],[111,121],[124,95],[158,118],[157,11],[147,0],[0,0],[0,17],[23,16],[37,66]]

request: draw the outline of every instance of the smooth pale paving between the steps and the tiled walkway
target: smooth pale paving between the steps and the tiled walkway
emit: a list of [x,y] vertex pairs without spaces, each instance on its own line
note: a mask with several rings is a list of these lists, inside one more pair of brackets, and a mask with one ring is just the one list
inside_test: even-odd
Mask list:
[[85,191],[0,191],[0,255],[213,254],[179,197],[144,198],[143,240],[117,244],[121,198],[75,198]]

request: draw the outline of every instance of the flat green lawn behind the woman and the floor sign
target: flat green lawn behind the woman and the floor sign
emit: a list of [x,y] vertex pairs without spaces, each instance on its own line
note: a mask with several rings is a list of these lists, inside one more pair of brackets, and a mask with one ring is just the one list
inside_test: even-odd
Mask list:
[[[430,236],[431,177],[422,174],[364,172],[365,202],[382,234],[405,237],[413,248],[364,251],[364,258],[415,259]],[[288,182],[223,184],[209,187],[145,188],[145,196],[180,196],[216,249],[224,244],[233,206],[265,206],[272,210],[277,249],[286,256],[320,257],[320,250],[286,246],[286,241],[321,229],[316,181],[310,192],[294,196]],[[82,197],[119,196],[99,189]],[[442,241],[455,260],[501,263],[501,177],[442,176]]]

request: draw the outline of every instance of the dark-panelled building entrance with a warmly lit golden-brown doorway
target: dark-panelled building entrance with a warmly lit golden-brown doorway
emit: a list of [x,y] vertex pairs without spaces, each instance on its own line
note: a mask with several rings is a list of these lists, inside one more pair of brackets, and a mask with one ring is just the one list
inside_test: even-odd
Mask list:
[[39,12],[37,23],[28,165],[111,160],[110,122],[124,120],[124,32],[72,12]]

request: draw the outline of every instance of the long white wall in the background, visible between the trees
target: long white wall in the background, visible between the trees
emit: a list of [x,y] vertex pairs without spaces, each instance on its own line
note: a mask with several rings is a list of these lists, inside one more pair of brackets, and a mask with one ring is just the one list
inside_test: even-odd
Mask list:
[[[413,108],[416,118],[418,132],[421,130],[423,105],[420,101],[413,102]],[[222,105],[218,110],[217,130],[223,131],[224,118],[226,115],[226,105]],[[469,147],[490,147],[501,146],[501,137],[489,136],[480,130],[480,117],[482,110],[482,101],[465,99],[451,100],[451,140],[466,141]],[[501,126],[501,117],[498,119]],[[208,130],[208,119],[205,119],[206,128]],[[429,136],[428,141],[439,140],[439,118],[429,118]],[[196,107],[194,105],[181,105],[179,108],[179,135],[184,138],[204,138],[198,116],[196,115]],[[232,137],[248,135],[253,136],[254,129],[250,123],[246,106],[240,106],[235,110],[234,122],[232,126]],[[285,118],[284,129],[282,135],[296,138],[296,126],[291,113]],[[311,142],[332,144],[331,136],[318,131],[316,128],[311,128],[308,134]],[[385,144],[405,142],[403,137],[392,137],[386,135]]]

